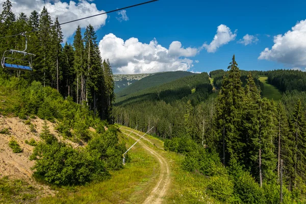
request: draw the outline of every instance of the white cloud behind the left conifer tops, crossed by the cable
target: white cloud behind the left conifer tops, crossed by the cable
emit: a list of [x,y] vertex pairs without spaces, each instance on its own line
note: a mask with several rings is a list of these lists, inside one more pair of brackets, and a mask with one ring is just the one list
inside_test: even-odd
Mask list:
[[[0,0],[0,12],[3,10],[2,4],[4,2],[5,0]],[[103,10],[98,10],[94,3],[89,3],[85,0],[77,1],[77,3],[73,1],[66,3],[59,0],[12,0],[12,10],[16,16],[21,12],[30,16],[31,12],[34,10],[40,13],[44,6],[50,13],[52,19],[55,20],[55,18],[58,17],[60,23],[105,12]],[[86,28],[88,24],[91,24],[97,30],[105,25],[106,19],[107,15],[105,14],[62,25],[64,40],[73,35],[78,25],[80,25],[81,28]]]

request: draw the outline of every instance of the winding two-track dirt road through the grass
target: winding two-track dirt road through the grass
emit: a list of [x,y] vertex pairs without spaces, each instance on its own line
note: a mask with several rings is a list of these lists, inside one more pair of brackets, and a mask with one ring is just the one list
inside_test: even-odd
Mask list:
[[[127,130],[125,128],[122,128],[122,130],[128,131],[128,132],[132,132],[132,131]],[[135,132],[134,132],[134,134],[138,135],[139,137],[142,136],[142,135],[139,135],[139,134],[137,134]],[[128,134],[125,134],[125,135],[128,135]],[[133,138],[134,140],[138,140],[139,139],[139,138],[135,138],[132,134],[130,135],[130,137]],[[145,140],[147,140],[147,139],[145,139]],[[152,156],[154,156],[158,160],[158,162],[160,163],[160,175],[158,177],[157,184],[151,190],[149,196],[145,199],[145,201],[143,203],[145,203],[145,204],[164,203],[163,202],[163,199],[164,199],[163,197],[166,194],[166,192],[167,192],[167,190],[169,189],[169,186],[170,186],[170,168],[169,168],[169,164],[167,163],[167,160],[161,154],[159,154],[156,150],[154,150],[152,147],[150,147],[149,145],[143,143],[141,140],[138,143],[146,151],[148,151]]]

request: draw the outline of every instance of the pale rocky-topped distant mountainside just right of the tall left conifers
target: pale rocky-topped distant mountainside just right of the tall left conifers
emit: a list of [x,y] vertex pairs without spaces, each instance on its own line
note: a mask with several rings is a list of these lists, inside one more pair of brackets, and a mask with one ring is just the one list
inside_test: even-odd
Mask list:
[[114,74],[115,93],[120,92],[125,87],[130,86],[134,82],[141,80],[144,77],[151,75],[151,73],[139,73],[139,74]]

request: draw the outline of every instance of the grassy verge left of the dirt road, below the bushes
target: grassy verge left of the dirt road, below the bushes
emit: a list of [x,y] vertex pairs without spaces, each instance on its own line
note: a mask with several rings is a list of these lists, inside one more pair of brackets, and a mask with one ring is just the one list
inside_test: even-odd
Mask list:
[[[127,146],[135,140],[127,139],[119,134]],[[140,203],[144,201],[144,191],[151,189],[155,177],[159,174],[158,163],[139,145],[135,145],[129,152],[131,162],[124,169],[111,171],[111,179],[91,183],[86,186],[60,188],[55,197],[46,197],[41,203]]]

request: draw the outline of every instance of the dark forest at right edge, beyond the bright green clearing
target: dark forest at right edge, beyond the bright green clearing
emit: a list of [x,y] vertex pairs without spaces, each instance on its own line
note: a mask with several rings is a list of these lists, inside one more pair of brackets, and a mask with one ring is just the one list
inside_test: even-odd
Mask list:
[[285,91],[306,91],[306,72],[299,70],[273,70],[267,72],[268,83]]

